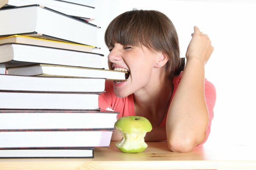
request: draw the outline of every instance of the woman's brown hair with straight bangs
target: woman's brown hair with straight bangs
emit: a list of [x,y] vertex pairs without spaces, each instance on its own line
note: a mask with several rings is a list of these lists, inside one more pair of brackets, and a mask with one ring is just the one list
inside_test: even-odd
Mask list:
[[180,74],[183,60],[180,59],[178,36],[172,21],[163,13],[154,10],[132,10],[120,14],[109,24],[105,32],[105,44],[144,45],[152,51],[162,51],[169,57],[166,63],[166,80]]

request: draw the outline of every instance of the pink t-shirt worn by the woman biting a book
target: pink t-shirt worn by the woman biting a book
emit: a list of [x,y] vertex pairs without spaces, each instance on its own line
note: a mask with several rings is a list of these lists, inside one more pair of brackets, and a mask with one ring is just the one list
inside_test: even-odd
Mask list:
[[[177,87],[180,83],[182,73],[179,76],[174,77],[174,79],[173,79],[173,92],[172,92],[172,97],[171,97],[170,103],[172,102],[172,98],[173,98],[175,92],[177,91]],[[117,116],[117,119],[119,119],[122,116],[135,116],[134,98],[133,98],[132,94],[125,98],[116,97],[114,94],[112,81],[106,81],[105,91],[106,91],[105,93],[103,93],[99,96],[99,108],[102,108],[102,109],[110,108],[113,111],[120,112]],[[212,118],[213,118],[213,108],[214,108],[215,101],[216,101],[215,87],[207,79],[205,79],[204,91],[205,91],[205,99],[206,99],[206,103],[207,103],[207,108],[208,108],[208,112],[209,112],[209,123],[208,123],[208,127],[206,130],[207,136],[206,136],[206,139],[204,140],[204,142],[206,142],[206,140],[209,136],[210,130],[211,130],[211,124],[212,124]],[[169,103],[169,105],[170,105],[170,103]],[[160,124],[161,127],[166,126],[167,113],[168,113],[168,111],[166,112],[166,116],[163,119],[163,122]],[[204,142],[202,142],[201,144],[203,144]]]

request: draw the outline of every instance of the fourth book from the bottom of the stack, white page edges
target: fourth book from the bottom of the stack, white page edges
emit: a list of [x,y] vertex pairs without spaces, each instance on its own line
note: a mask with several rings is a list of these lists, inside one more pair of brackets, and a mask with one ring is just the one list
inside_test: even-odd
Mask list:
[[99,109],[99,94],[0,91],[1,109]]

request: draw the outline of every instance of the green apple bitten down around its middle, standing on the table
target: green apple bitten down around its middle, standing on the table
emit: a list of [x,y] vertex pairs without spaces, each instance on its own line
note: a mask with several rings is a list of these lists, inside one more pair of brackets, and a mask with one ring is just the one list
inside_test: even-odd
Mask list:
[[143,152],[148,145],[144,141],[147,132],[152,130],[152,125],[142,116],[124,116],[115,123],[122,139],[116,143],[116,147],[124,153]]

